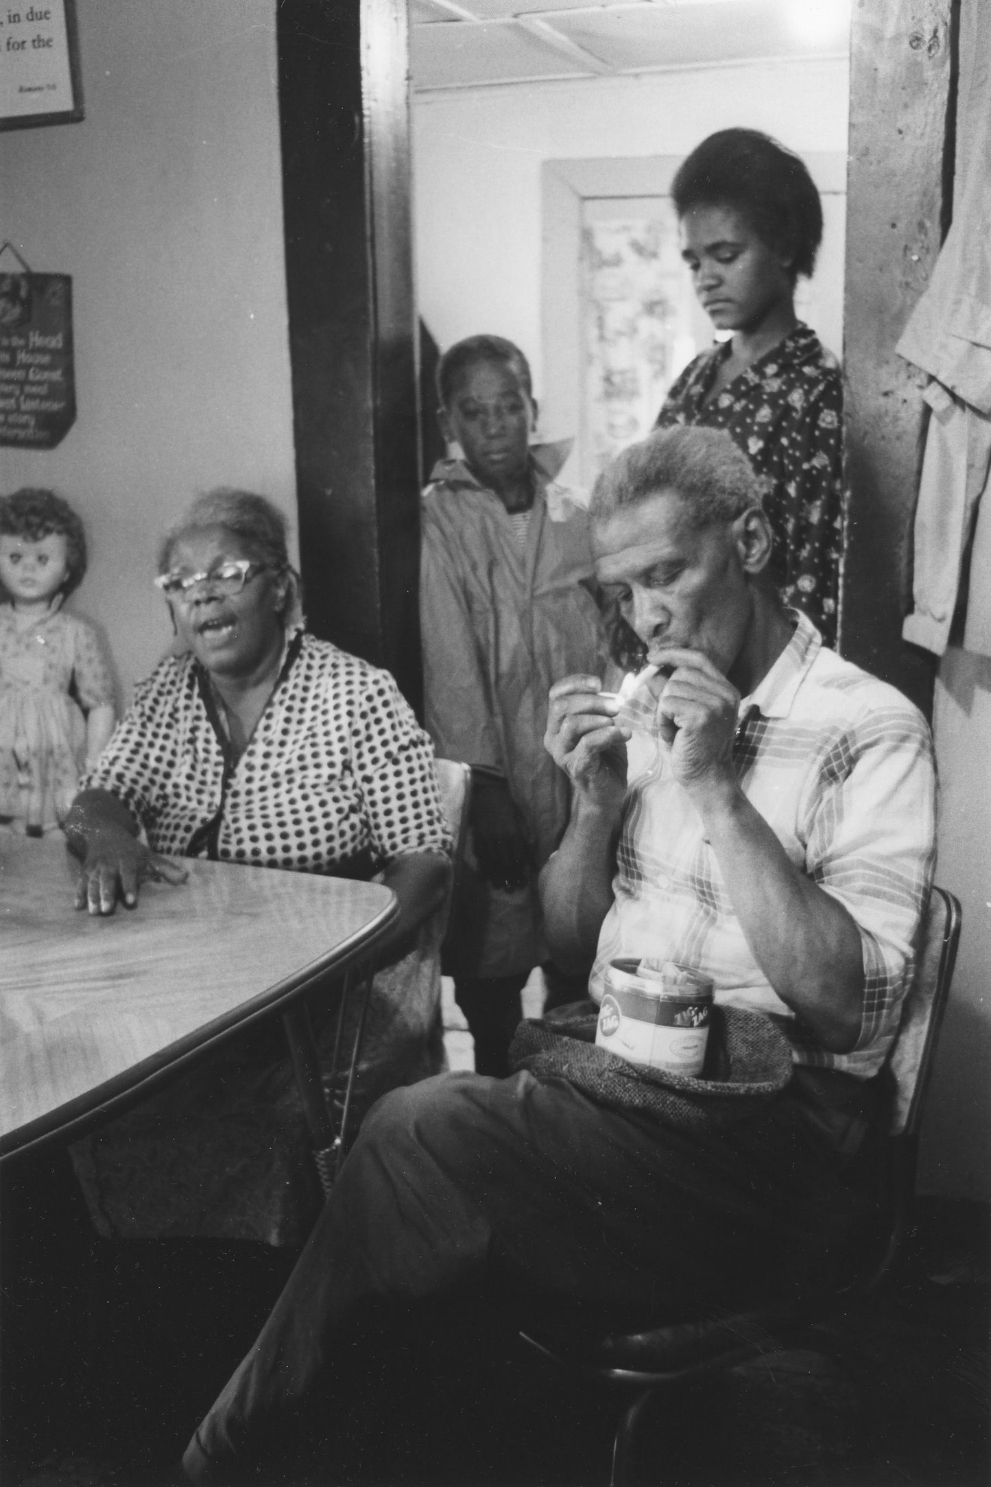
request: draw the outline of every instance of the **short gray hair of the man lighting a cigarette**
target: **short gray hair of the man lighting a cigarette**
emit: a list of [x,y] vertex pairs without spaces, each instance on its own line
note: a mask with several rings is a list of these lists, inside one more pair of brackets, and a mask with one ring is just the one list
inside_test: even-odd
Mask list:
[[679,424],[655,430],[606,465],[591,492],[591,520],[663,491],[682,498],[695,526],[732,522],[762,504],[761,482],[725,430]]

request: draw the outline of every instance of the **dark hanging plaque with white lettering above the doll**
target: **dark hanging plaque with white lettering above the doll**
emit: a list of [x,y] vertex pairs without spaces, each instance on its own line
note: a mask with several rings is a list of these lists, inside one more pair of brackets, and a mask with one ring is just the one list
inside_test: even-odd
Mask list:
[[0,274],[0,445],[53,449],[74,422],[73,281]]

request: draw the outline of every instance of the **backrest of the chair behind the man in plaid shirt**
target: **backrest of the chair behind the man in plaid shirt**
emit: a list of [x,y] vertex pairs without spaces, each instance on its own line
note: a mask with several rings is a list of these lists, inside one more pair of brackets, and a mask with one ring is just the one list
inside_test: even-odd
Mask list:
[[891,1135],[915,1136],[933,1066],[960,943],[960,903],[945,888],[933,886],[923,919],[915,978],[905,993],[902,1020],[888,1054],[894,1075]]

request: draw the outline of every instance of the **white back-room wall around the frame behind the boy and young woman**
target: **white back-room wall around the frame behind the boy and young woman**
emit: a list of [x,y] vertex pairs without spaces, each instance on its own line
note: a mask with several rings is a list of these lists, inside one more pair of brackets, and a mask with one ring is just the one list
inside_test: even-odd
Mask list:
[[847,149],[845,59],[417,94],[413,186],[419,311],[441,348],[493,332],[541,352],[541,165],[685,155],[713,129],[795,150]]

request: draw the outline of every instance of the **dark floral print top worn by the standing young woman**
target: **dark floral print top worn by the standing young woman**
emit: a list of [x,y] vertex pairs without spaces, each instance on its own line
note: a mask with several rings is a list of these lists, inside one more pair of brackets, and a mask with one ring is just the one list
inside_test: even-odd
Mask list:
[[657,428],[725,428],[764,486],[774,529],[773,572],[826,645],[836,641],[842,553],[842,382],[835,357],[808,326],[709,397],[731,342],[695,357],[673,384]]

